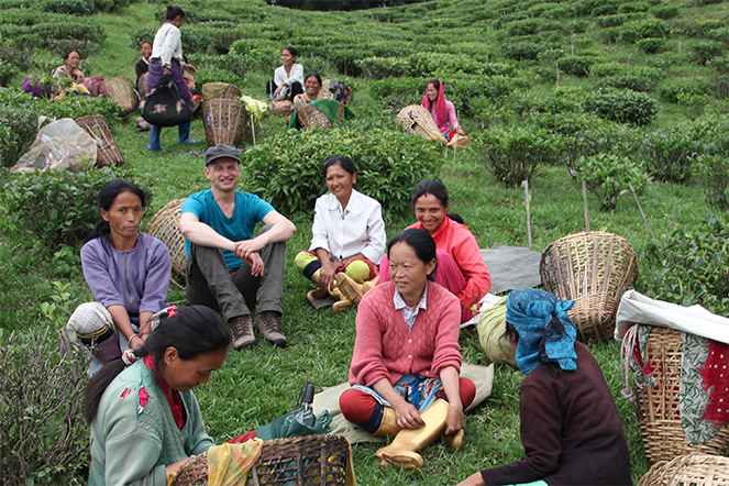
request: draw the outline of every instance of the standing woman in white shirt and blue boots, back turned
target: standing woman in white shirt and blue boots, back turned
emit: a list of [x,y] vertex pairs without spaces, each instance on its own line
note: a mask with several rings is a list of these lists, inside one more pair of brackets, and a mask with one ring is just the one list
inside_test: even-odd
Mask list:
[[[185,12],[179,7],[167,5],[166,21],[154,36],[152,43],[152,57],[150,57],[150,70],[147,75],[147,89],[159,81],[164,75],[172,73],[179,89],[179,96],[184,101],[189,102],[192,99],[190,89],[185,81],[183,69],[194,75],[198,70],[191,64],[183,60],[183,41],[179,27],[185,23]],[[198,140],[190,139],[190,122],[183,123],[178,128],[179,140],[177,143],[198,143]],[[159,135],[162,126],[152,125],[150,130],[150,151],[162,151],[159,145]]]

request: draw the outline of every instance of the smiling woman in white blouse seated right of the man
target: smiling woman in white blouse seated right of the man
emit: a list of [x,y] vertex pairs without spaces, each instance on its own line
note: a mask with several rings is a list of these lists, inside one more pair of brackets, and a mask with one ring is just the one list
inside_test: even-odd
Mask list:
[[357,168],[350,157],[330,157],[323,176],[329,194],[317,199],[311,245],[308,252],[299,252],[294,263],[317,285],[307,294],[309,301],[331,294],[340,299],[334,310],[342,311],[353,299],[343,298],[336,283],[346,281],[347,288],[361,292],[361,285],[377,276],[385,253],[385,223],[379,202],[354,189]]

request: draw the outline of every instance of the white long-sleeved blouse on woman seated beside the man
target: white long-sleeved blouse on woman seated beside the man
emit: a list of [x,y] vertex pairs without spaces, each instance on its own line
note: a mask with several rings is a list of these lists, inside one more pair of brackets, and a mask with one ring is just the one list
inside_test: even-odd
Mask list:
[[323,248],[330,258],[339,261],[362,253],[379,264],[386,239],[379,202],[352,189],[345,210],[331,192],[317,199],[314,210],[310,252]]

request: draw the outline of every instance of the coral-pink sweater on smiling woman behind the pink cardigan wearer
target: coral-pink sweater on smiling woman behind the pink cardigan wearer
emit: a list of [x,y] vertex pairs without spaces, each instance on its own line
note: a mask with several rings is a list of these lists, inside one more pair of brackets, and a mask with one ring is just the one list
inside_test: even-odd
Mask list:
[[[408,228],[424,230],[419,222]],[[435,247],[448,252],[461,268],[461,273],[466,279],[466,288],[456,297],[462,308],[471,309],[471,306],[478,303],[491,289],[491,276],[486,269],[476,239],[471,234],[468,228],[448,217],[432,236]]]

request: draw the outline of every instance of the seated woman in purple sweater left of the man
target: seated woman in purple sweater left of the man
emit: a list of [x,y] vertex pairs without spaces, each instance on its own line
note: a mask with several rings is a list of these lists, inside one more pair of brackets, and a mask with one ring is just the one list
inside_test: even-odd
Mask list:
[[148,320],[167,305],[170,262],[167,247],[140,231],[145,194],[124,179],[99,191],[101,221],[81,248],[84,277],[95,302],[81,303],[67,329],[96,347],[89,374],[137,349],[150,335]]

